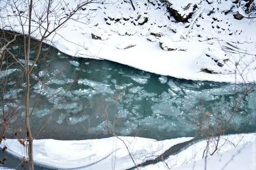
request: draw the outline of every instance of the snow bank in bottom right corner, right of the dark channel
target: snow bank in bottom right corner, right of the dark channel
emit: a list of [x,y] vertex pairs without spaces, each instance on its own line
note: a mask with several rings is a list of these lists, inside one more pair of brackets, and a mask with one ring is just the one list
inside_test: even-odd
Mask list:
[[205,169],[205,164],[206,169],[251,169],[252,166],[255,168],[255,139],[255,133],[221,136],[218,150],[213,156],[210,154],[214,151],[217,141],[216,138],[211,139],[208,149],[209,154],[206,159],[202,159],[202,156],[204,155],[207,141],[201,141],[189,146],[177,155],[169,156],[165,162],[148,165],[142,169],[201,170]]

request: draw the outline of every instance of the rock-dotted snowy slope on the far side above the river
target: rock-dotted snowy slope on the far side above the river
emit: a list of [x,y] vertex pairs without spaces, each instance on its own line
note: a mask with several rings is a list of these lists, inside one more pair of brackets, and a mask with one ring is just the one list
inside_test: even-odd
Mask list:
[[[37,2],[38,11],[42,2]],[[252,17],[255,10],[250,16],[245,14],[245,1],[133,3],[135,11],[130,1],[89,4],[79,11],[79,16],[88,15],[68,21],[57,34],[48,37],[48,43],[52,41],[69,55],[108,59],[176,78],[235,82],[236,73],[237,82],[255,82],[256,18]],[[64,5],[65,11],[76,6],[76,0]],[[173,11],[191,18],[177,22],[179,16]],[[235,19],[237,12],[248,17]],[[14,13],[10,6],[1,10],[2,16],[8,16],[2,19],[1,28],[12,26],[21,32],[18,17],[11,17]],[[34,30],[33,36],[40,38],[39,33]],[[225,55],[224,61],[219,54]]]

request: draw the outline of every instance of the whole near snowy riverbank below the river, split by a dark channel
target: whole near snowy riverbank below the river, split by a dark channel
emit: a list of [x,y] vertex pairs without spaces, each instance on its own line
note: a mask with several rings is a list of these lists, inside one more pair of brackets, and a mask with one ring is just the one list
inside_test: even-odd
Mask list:
[[[250,169],[255,167],[255,135],[236,134],[221,136],[214,156],[217,139],[199,141],[178,154],[172,154],[157,164],[142,169]],[[34,141],[34,161],[41,166],[58,169],[129,169],[163,154],[172,146],[191,140],[177,138],[165,141],[139,137],[90,139],[84,141],[56,141],[42,139]],[[202,159],[207,144],[208,157]],[[1,148],[7,147],[12,155],[26,156],[24,145],[17,139],[6,139]],[[254,154],[254,155],[253,155]],[[205,152],[206,155],[206,152]],[[254,157],[253,157],[254,156]],[[134,165],[136,164],[136,165]],[[240,168],[239,168],[240,167]]]

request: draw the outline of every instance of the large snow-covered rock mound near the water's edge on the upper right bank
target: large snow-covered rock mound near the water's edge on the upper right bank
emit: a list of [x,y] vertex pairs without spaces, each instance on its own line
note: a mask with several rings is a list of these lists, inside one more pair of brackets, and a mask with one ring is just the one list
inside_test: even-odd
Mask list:
[[225,51],[215,47],[208,47],[198,58],[196,71],[209,74],[234,74],[235,68]]

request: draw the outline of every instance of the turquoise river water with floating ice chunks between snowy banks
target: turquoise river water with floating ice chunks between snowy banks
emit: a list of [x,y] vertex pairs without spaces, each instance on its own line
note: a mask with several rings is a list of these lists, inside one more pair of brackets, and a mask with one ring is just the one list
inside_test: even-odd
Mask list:
[[[9,50],[24,62],[21,47]],[[41,58],[31,74],[31,128],[37,139],[211,135],[234,112],[234,98],[241,103],[226,133],[255,131],[254,84],[176,79],[110,61],[74,58],[48,46]],[[24,136],[23,72],[11,58],[2,64],[0,110],[11,121],[9,138]],[[20,162],[8,158],[9,167]]]

